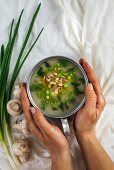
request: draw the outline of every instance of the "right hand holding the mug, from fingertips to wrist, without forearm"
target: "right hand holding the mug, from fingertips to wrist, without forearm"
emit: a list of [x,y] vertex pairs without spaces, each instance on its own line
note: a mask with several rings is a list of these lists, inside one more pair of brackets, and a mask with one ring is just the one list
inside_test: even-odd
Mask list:
[[74,131],[78,140],[83,135],[95,135],[96,123],[106,104],[94,71],[84,59],[80,60],[80,64],[87,73],[90,84],[85,88],[85,105],[77,112],[74,122]]

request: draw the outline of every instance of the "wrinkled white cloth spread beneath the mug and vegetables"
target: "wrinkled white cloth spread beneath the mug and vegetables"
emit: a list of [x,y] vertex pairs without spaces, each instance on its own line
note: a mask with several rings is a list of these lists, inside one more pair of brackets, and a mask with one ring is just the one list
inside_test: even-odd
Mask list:
[[[76,62],[84,56],[97,74],[107,101],[97,123],[96,133],[102,146],[114,161],[114,1],[0,0],[0,45],[8,39],[12,19],[17,19],[21,10],[25,9],[11,69],[21,48],[31,16],[39,2],[42,2],[42,7],[34,25],[31,41],[42,27],[45,29],[40,41],[25,62],[18,81],[26,82],[34,65],[48,56],[67,56]],[[70,146],[75,160],[75,170],[85,170],[80,148],[73,133],[72,122],[70,124]],[[48,151],[35,138],[32,137],[30,140],[33,144],[32,158],[20,169],[50,170],[51,159]],[[11,170],[2,147],[0,147],[0,170]]]

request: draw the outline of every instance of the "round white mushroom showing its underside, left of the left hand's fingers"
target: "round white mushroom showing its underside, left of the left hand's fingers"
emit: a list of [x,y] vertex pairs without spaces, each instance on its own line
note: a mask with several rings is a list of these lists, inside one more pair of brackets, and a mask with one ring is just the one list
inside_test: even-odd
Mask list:
[[12,99],[7,103],[7,111],[12,116],[17,116],[22,113],[22,105],[19,99]]

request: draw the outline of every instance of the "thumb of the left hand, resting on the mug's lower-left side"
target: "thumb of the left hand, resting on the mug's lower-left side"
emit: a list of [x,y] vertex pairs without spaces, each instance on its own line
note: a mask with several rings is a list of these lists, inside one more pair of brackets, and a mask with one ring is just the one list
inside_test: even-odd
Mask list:
[[45,119],[44,115],[37,108],[31,107],[30,111],[32,113],[36,125],[40,128],[40,130],[45,132],[46,134],[50,134],[53,129],[53,125],[51,125]]

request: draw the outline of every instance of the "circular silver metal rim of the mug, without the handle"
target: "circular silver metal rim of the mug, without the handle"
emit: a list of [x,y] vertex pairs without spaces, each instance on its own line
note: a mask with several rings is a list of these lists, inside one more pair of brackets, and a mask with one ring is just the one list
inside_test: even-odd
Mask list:
[[30,72],[30,74],[29,74],[29,76],[28,76],[28,79],[27,79],[27,94],[28,94],[28,98],[29,98],[31,104],[32,104],[34,107],[37,107],[37,108],[43,113],[43,115],[45,115],[45,116],[47,116],[47,117],[49,117],[49,118],[54,118],[54,119],[56,119],[56,118],[61,118],[61,119],[62,119],[62,118],[67,118],[67,117],[73,115],[74,113],[76,113],[77,111],[79,111],[79,109],[80,109],[80,108],[83,106],[83,104],[85,103],[86,97],[83,98],[83,100],[81,101],[81,103],[79,104],[79,106],[78,106],[76,109],[74,109],[73,111],[69,112],[67,115],[63,115],[63,116],[51,116],[50,114],[48,114],[48,113],[45,112],[44,110],[40,109],[40,108],[35,104],[35,102],[34,102],[34,100],[33,100],[33,98],[32,98],[31,92],[30,92],[30,88],[29,88],[31,77],[32,77],[34,71],[38,68],[38,66],[40,66],[41,64],[43,64],[45,61],[47,61],[47,60],[49,60],[49,59],[54,59],[54,58],[55,58],[55,59],[61,58],[61,59],[66,59],[66,60],[70,61],[70,62],[73,63],[75,66],[77,66],[77,67],[80,69],[80,71],[82,72],[82,74],[83,74],[83,76],[84,76],[84,79],[85,79],[85,85],[87,85],[87,84],[89,83],[89,81],[88,81],[86,72],[84,71],[83,67],[82,67],[79,63],[77,63],[77,62],[75,62],[74,60],[72,60],[72,59],[70,59],[70,58],[68,58],[68,57],[65,57],[65,56],[57,55],[57,56],[46,57],[46,58],[42,59],[40,62],[38,62],[38,63],[33,67],[32,71]]

